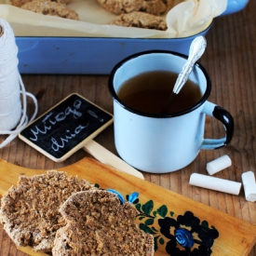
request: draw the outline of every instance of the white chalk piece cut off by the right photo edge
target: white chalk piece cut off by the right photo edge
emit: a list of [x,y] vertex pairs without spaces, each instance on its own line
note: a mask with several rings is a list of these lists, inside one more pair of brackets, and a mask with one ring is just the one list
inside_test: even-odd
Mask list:
[[256,201],[256,182],[254,173],[249,170],[242,174],[242,182],[244,185],[245,197],[250,202]]

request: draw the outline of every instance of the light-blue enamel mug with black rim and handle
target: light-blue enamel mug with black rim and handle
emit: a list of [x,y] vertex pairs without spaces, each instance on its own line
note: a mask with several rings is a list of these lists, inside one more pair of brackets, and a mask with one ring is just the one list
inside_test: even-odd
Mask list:
[[[193,106],[174,114],[147,114],[131,108],[118,97],[118,91],[130,78],[151,71],[179,74],[187,56],[152,50],[120,61],[109,76],[109,91],[114,100],[114,133],[117,153],[130,166],[151,173],[166,173],[186,167],[200,150],[227,145],[233,137],[234,120],[222,107],[208,101],[211,81],[204,67],[196,62],[189,79],[202,97]],[[205,117],[222,122],[225,136],[204,138]]]

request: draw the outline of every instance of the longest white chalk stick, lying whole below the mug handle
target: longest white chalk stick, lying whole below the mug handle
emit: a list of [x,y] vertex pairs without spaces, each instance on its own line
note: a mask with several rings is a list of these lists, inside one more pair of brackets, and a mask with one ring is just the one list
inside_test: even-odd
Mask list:
[[189,183],[198,187],[208,188],[233,195],[239,194],[242,185],[240,182],[232,182],[198,173],[193,173],[190,176]]

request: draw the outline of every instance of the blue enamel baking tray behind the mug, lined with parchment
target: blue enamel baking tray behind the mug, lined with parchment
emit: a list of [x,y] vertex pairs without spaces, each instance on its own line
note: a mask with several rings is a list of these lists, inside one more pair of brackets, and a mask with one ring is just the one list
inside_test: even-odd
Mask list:
[[[249,0],[228,0],[222,15],[235,13]],[[208,33],[212,23],[203,31]],[[188,54],[192,40],[185,38],[17,37],[20,74],[109,74],[131,54],[166,49]]]

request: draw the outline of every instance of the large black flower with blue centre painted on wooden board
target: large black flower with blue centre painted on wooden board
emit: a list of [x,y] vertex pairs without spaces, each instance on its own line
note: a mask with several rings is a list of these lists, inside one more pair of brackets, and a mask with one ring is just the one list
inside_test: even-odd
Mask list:
[[214,239],[219,232],[200,222],[191,211],[179,215],[177,220],[166,217],[159,219],[160,232],[169,240],[166,251],[171,256],[209,256]]

